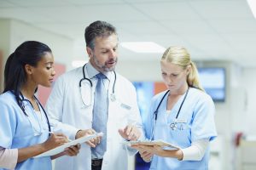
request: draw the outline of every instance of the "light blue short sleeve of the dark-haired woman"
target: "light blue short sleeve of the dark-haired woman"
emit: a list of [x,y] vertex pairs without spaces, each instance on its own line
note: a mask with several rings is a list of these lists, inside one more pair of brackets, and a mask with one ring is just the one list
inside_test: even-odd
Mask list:
[[15,108],[0,99],[0,146],[10,148],[15,135],[16,116]]

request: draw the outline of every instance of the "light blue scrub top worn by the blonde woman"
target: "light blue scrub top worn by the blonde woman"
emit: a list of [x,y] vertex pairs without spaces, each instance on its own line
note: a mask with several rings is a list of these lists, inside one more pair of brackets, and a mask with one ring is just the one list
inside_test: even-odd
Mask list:
[[[148,119],[143,122],[146,138],[150,139],[154,123],[154,111],[160,103],[165,92],[157,94],[152,99]],[[176,120],[177,111],[183,101],[184,95],[178,99],[171,113],[166,112],[167,96],[160,105],[157,121],[155,123],[154,139],[163,139],[180,148],[187,148],[192,142],[200,139],[214,139],[217,136],[214,113],[215,106],[211,97],[196,88],[189,88],[179,116],[177,117],[177,129],[172,130],[171,123]],[[178,161],[176,158],[154,156],[150,169],[172,170],[206,170],[208,169],[209,148],[201,161]]]

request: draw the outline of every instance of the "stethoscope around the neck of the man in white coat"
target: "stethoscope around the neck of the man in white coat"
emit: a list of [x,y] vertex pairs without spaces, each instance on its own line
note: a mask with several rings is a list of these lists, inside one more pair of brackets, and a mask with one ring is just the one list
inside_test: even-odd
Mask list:
[[[84,72],[85,66],[86,66],[86,64],[83,66],[83,78],[79,81],[79,88],[80,88],[80,94],[81,94],[83,104],[84,104],[84,106],[88,107],[92,103],[91,102],[91,99],[92,99],[92,82],[89,78],[85,77],[85,72]],[[113,74],[114,74],[114,81],[113,81],[112,94],[110,94],[111,101],[116,100],[116,97],[115,97],[115,94],[114,94],[114,87],[115,87],[115,82],[116,82],[116,73],[115,73],[115,71],[113,71]],[[86,90],[86,88],[83,88],[83,86],[82,86],[83,81],[90,82],[90,90],[89,91]],[[88,83],[86,83],[86,84],[88,84]],[[90,99],[88,99],[88,96],[83,95],[83,94],[88,94],[88,93],[90,93]],[[84,96],[86,97],[86,99],[85,99]]]

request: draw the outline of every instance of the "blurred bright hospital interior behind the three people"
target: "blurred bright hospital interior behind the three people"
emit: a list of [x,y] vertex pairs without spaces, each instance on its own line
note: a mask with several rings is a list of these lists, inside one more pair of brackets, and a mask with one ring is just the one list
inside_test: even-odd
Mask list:
[[[49,45],[59,76],[88,60],[84,29],[106,20],[119,33],[117,71],[134,82],[142,117],[165,89],[160,57],[181,45],[197,64],[216,105],[218,138],[211,170],[256,169],[255,0],[0,0],[0,89],[9,54],[21,42]],[[252,4],[254,6],[249,6]],[[137,48],[134,48],[137,47]],[[39,88],[45,102],[50,89]],[[129,169],[148,169],[130,157]]]

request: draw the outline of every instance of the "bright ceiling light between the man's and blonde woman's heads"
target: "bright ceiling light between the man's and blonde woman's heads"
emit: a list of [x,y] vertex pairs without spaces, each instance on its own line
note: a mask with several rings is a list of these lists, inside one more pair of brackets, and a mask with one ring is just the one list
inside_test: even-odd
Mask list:
[[164,53],[166,51],[166,48],[154,42],[121,42],[120,45],[136,53]]

